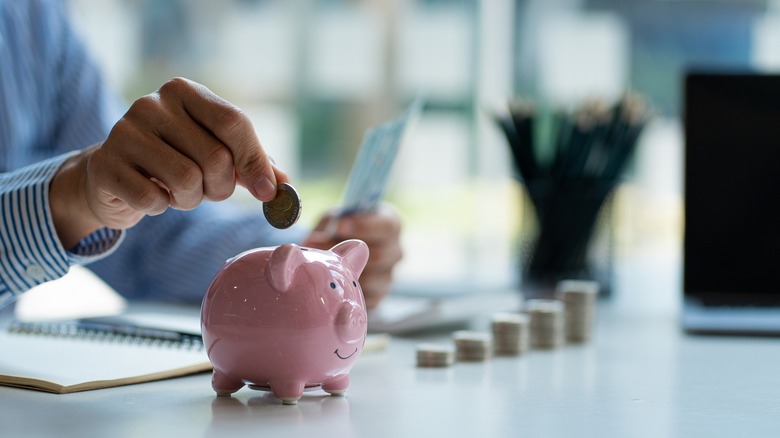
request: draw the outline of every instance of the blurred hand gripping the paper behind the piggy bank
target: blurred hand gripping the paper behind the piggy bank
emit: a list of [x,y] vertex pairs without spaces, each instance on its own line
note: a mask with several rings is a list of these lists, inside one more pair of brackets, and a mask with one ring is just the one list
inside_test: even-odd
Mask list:
[[304,246],[330,249],[346,239],[360,239],[368,244],[368,264],[360,276],[360,285],[366,298],[366,306],[375,308],[389,292],[393,281],[393,268],[401,260],[401,220],[388,205],[376,211],[355,213],[337,217],[326,213]]

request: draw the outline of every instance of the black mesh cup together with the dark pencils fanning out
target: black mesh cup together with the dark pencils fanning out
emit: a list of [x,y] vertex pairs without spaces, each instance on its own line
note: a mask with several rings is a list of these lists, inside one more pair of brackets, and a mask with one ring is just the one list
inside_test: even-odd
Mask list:
[[[613,105],[593,101],[539,116],[532,104],[514,100],[495,117],[524,189],[521,288],[529,297],[551,297],[560,280],[594,280],[609,295],[612,194],[649,112],[627,94]],[[535,135],[539,128],[543,135]]]

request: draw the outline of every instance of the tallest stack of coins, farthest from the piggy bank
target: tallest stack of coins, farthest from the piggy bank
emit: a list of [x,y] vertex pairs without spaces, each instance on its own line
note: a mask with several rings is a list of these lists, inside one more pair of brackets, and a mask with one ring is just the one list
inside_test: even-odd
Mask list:
[[595,281],[564,280],[558,283],[555,292],[566,309],[566,340],[575,343],[589,341],[596,319],[599,284]]

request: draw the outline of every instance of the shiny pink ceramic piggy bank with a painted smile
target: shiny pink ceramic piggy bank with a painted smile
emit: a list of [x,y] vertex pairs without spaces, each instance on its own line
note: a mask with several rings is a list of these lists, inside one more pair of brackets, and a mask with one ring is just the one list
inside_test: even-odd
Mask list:
[[366,340],[358,277],[367,261],[368,246],[346,240],[328,251],[257,248],[225,262],[201,306],[217,394],[248,385],[284,404],[309,389],[343,395]]

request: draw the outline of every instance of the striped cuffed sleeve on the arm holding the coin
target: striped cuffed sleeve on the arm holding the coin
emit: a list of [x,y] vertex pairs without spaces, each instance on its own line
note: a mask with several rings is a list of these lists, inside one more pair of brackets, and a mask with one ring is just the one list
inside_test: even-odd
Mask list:
[[63,248],[52,222],[49,184],[70,155],[0,174],[0,307],[62,277],[74,264],[107,256],[123,238],[121,231],[101,229],[70,251]]

